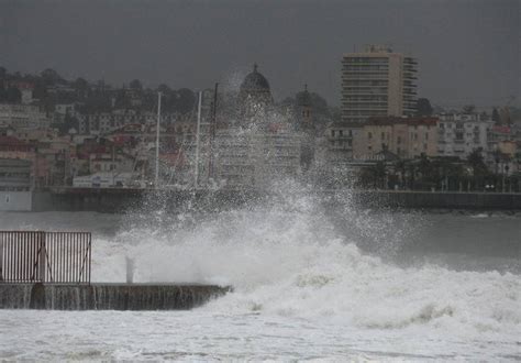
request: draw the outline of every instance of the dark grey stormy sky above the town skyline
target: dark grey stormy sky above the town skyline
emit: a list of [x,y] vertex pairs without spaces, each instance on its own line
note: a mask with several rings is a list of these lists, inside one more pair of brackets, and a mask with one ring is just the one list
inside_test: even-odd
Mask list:
[[419,59],[419,97],[501,106],[518,96],[519,0],[0,0],[0,65],[65,78],[200,89],[257,62],[277,99],[340,103],[343,53],[389,44]]

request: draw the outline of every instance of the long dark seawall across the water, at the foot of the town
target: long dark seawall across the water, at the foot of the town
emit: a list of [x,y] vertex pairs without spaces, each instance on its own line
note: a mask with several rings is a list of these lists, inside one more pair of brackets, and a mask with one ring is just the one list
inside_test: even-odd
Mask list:
[[[372,208],[465,209],[465,210],[521,210],[520,193],[458,193],[415,190],[322,190],[329,200],[348,194],[354,202]],[[258,200],[270,193],[243,190],[171,190],[130,188],[54,188],[48,193],[34,193],[33,211],[100,211],[121,212],[141,206],[166,206],[177,210],[187,202],[204,208],[245,204]]]

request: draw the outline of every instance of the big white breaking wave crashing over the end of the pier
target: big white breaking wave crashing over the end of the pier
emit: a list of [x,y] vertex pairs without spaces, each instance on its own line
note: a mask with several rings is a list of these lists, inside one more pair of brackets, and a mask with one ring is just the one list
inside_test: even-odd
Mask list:
[[[121,258],[124,250],[135,258],[135,278],[141,282],[233,286],[233,294],[203,307],[217,314],[519,337],[520,276],[429,264],[397,266],[386,256],[396,253],[397,245],[414,243],[413,231],[403,231],[406,226],[397,226],[386,213],[374,216],[348,204],[343,208],[341,228],[312,194],[289,193],[282,201],[204,217],[185,213],[168,220],[159,213],[154,218],[162,220],[160,229],[121,231],[115,238],[120,243],[106,241],[108,250],[97,257]],[[363,238],[379,245],[377,253],[361,250]],[[121,279],[123,270],[97,277],[118,274]]]

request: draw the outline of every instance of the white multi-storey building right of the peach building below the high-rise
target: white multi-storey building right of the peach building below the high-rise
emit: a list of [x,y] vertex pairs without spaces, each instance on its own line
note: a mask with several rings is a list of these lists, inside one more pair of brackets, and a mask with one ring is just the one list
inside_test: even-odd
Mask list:
[[477,113],[442,113],[437,117],[440,156],[457,156],[465,160],[475,150],[481,150],[483,156],[486,156],[487,135],[494,121]]

